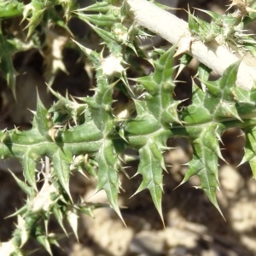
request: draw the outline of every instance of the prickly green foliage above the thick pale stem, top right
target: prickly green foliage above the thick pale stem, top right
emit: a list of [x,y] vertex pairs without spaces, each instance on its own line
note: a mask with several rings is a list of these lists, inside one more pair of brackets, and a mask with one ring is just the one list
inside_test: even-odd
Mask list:
[[[253,22],[255,3],[246,3],[243,0],[232,1],[230,7],[235,6],[234,13],[218,15],[212,11],[199,9],[211,16],[210,23],[192,15],[189,11],[189,30],[195,38],[204,43],[216,41],[237,53],[243,55],[246,51],[255,54],[255,40],[246,30],[246,26]],[[251,4],[251,6],[249,6]]]

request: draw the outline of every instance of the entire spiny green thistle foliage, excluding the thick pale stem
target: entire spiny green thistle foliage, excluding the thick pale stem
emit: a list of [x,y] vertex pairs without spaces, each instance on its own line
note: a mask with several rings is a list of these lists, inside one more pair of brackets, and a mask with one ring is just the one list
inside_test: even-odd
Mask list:
[[[207,11],[212,16],[209,24],[189,13],[189,31],[193,40],[207,44],[221,34],[218,44],[224,44],[227,49],[232,44],[233,51],[249,50],[253,55],[255,39],[244,34],[246,26],[254,20],[253,3],[246,9],[248,4],[241,2],[246,9],[246,13],[239,12],[241,15],[220,16]],[[61,14],[56,6],[61,6]],[[21,26],[24,26],[20,34],[26,34],[26,37],[15,37],[6,27],[3,31],[5,19],[19,16]],[[201,64],[196,78],[200,84],[193,81],[191,104],[181,107],[182,101],[174,96],[175,77],[179,67],[189,64],[191,53],[189,49],[184,51],[177,67],[174,63],[177,45],[167,50],[143,49],[140,40],[147,37],[148,32],[135,22],[129,1],[104,0],[87,7],[81,7],[73,0],[32,0],[27,4],[2,1],[0,17],[1,69],[14,94],[17,72],[12,57],[26,49],[43,50],[40,35],[52,24],[67,31],[70,38],[67,46],[78,49],[96,73],[93,96],[61,96],[49,88],[58,100],[47,109],[38,96],[30,130],[0,131],[0,156],[20,160],[24,179],[16,177],[11,170],[10,173],[27,196],[25,205],[12,215],[17,218],[16,228],[12,238],[0,245],[1,255],[22,255],[22,247],[31,238],[52,254],[51,245],[58,246],[58,237],[48,231],[52,215],[64,233],[67,234],[64,224],[67,220],[78,236],[79,212],[92,215],[93,209],[101,206],[73,201],[69,181],[74,172],[96,177],[96,192],[105,190],[109,205],[123,219],[118,204],[119,172],[125,172],[125,160],[129,156],[127,148],[137,150],[137,175],[143,177],[134,196],[148,189],[162,220],[161,198],[166,171],[163,153],[172,150],[167,145],[169,138],[186,137],[193,148],[193,158],[187,163],[188,170],[180,185],[192,176],[199,176],[198,189],[205,191],[220,214],[216,199],[218,160],[224,160],[220,144],[226,129],[239,127],[244,132],[246,145],[241,164],[249,162],[255,177],[256,89],[237,86],[241,60],[226,68],[215,81],[209,79],[211,69]],[[89,49],[84,38],[73,37],[67,26],[67,20],[72,17],[85,22],[101,38],[101,50]],[[231,22],[227,21],[230,17]],[[127,74],[134,56],[147,58],[154,71],[147,74],[141,70],[141,76],[129,77]],[[127,103],[116,100],[115,93],[124,95]],[[43,186],[39,186],[39,182],[43,182]]]

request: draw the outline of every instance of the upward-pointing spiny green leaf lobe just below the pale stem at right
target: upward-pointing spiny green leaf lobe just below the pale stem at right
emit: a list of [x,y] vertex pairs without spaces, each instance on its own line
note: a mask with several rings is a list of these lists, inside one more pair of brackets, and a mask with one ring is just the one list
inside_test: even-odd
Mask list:
[[[185,122],[190,122],[191,118],[195,119],[195,123],[198,119],[238,119],[241,121],[239,112],[245,111],[245,106],[237,105],[239,98],[242,96],[243,90],[236,88],[236,74],[241,61],[230,65],[225,71],[224,75],[217,81],[208,81],[208,72],[201,74],[201,87],[205,89],[205,92],[195,89],[193,85],[193,103],[184,112]],[[194,91],[196,93],[194,93]],[[236,94],[237,91],[237,94]],[[244,102],[241,102],[244,103]],[[253,102],[247,102],[253,108]],[[240,110],[238,112],[238,109]],[[201,114],[199,114],[201,113]]]

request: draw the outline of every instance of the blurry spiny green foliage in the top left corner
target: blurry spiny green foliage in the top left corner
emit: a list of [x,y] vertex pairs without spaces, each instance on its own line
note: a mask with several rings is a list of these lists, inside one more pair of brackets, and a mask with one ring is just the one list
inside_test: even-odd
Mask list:
[[[66,18],[63,20],[61,15],[55,11],[56,5],[61,5],[67,10]],[[27,49],[40,49],[40,29],[47,31],[47,23],[44,20],[53,20],[56,25],[62,26],[68,30],[67,19],[68,13],[75,8],[73,0],[55,0],[41,1],[32,0],[30,3],[22,3],[17,0],[1,1],[0,2],[0,24],[3,26],[4,18],[20,16],[20,29],[13,33],[0,29],[0,68],[4,79],[13,90],[15,95],[15,79],[17,72],[13,65],[13,57],[17,52]],[[6,30],[12,29],[12,23],[9,23],[9,28],[3,26]],[[42,26],[42,27],[40,27]],[[37,30],[38,28],[38,30]],[[30,40],[27,40],[30,38]]]

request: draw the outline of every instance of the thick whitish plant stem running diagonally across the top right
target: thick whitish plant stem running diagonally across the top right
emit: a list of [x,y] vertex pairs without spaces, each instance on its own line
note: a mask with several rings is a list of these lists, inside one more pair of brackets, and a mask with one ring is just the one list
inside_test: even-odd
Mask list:
[[[127,0],[127,3],[139,26],[148,28],[170,43],[178,44],[183,37],[190,35],[187,22],[160,9],[154,3],[149,3],[146,0]],[[192,41],[188,53],[219,75],[222,75],[232,63],[241,59],[224,45],[219,45],[215,41],[204,44],[198,39]],[[256,61],[255,58],[250,60],[250,62],[253,61]],[[255,81],[256,69],[248,66],[244,60],[241,61],[236,84],[245,90],[251,90],[255,86]]]

